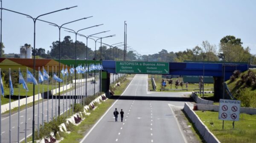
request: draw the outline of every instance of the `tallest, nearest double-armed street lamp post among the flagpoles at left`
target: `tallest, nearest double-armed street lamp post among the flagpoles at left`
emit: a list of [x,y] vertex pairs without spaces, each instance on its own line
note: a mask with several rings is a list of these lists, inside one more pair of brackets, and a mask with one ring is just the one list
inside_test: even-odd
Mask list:
[[[70,8],[74,8],[74,7],[77,7],[77,6],[73,6],[73,7],[70,7]],[[28,15],[28,14],[23,14],[23,13],[20,13],[20,12],[17,12],[17,11],[12,11],[12,10],[9,10],[9,9],[6,9],[6,8],[1,8],[6,10],[6,11],[11,11],[11,12],[15,12],[17,14],[22,14],[22,15],[25,15],[27,17],[30,17],[32,18],[33,22],[34,22],[34,69],[33,69],[33,75],[35,76],[35,23],[36,23],[36,20],[38,20],[39,17],[41,16],[44,16],[44,15],[47,15],[47,14],[52,14],[52,13],[55,13],[55,12],[58,12],[58,11],[62,11],[62,10],[67,10],[67,9],[70,9],[70,8],[63,8],[63,9],[60,9],[60,10],[57,10],[57,11],[52,11],[52,12],[49,12],[49,13],[46,13],[46,14],[41,14],[39,15],[38,17],[36,18],[33,18],[32,16]],[[1,43],[2,44],[2,43]],[[26,137],[25,137],[26,138]],[[26,140],[26,139],[25,139]],[[35,84],[33,84],[33,121],[32,121],[32,142],[34,143],[35,142]]]

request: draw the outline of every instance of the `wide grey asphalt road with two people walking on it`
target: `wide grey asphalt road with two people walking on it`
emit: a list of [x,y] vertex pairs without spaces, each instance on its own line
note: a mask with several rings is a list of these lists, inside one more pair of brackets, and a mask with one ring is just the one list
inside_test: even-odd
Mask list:
[[[136,75],[125,92],[80,143],[187,143],[172,107],[183,107],[185,93],[147,91],[147,75]],[[115,122],[113,111],[124,111]]]

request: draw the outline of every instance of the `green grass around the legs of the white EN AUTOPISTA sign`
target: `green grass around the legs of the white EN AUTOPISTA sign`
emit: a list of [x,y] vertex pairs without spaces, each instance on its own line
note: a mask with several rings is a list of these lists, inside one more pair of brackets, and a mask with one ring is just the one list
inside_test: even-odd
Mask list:
[[218,112],[195,112],[221,143],[256,143],[256,115],[240,114],[234,129],[233,121],[224,121],[222,129],[222,120],[218,120]]

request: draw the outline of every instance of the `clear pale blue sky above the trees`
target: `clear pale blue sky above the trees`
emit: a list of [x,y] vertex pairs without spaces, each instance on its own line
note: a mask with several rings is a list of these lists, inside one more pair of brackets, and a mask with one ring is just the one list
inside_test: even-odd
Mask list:
[[[127,23],[127,44],[141,55],[160,52],[178,52],[200,46],[207,40],[218,48],[220,39],[227,35],[236,36],[256,54],[256,0],[2,0],[2,7],[23,14],[38,17],[51,11],[78,6],[69,10],[48,14],[39,19],[79,29],[104,24],[79,31],[95,36],[114,37],[102,39],[112,45],[124,41],[124,21]],[[20,46],[33,44],[34,23],[31,19],[14,12],[2,11],[2,42],[5,53],[20,53]],[[52,42],[58,41],[58,28],[36,21],[35,48],[50,50]],[[61,30],[64,36],[75,34]],[[86,43],[86,39],[77,36]],[[97,43],[98,49],[100,43]],[[94,50],[95,42],[88,40],[88,47]]]

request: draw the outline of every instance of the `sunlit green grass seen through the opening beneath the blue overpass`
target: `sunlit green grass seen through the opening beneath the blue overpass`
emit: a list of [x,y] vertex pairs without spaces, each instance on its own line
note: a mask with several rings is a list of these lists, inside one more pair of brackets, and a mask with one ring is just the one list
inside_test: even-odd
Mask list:
[[[149,80],[148,80],[149,90],[153,90],[152,82],[151,82],[151,75],[148,75],[148,78],[149,78]],[[154,80],[157,84],[157,90],[156,91],[160,91],[160,89],[162,89],[162,80],[163,80],[163,78],[161,78],[160,75],[155,75]],[[170,79],[164,79],[164,81],[166,81],[166,87],[163,87],[163,89],[173,89],[173,90],[162,90],[163,92],[200,91],[198,84],[188,83],[188,87],[186,88],[186,83],[183,83],[182,87],[179,85],[176,88],[175,87],[175,81],[177,79],[175,79],[175,78],[172,79],[172,82],[173,82],[172,85],[169,84],[168,80],[170,80]],[[178,80],[182,81],[182,78],[179,78]],[[213,88],[213,84],[204,84],[204,88]],[[186,90],[186,89],[188,89],[188,90]],[[189,90],[189,89],[198,89],[198,90]],[[203,92],[203,89],[201,89],[201,91]],[[212,91],[212,89],[204,89],[204,91]]]

